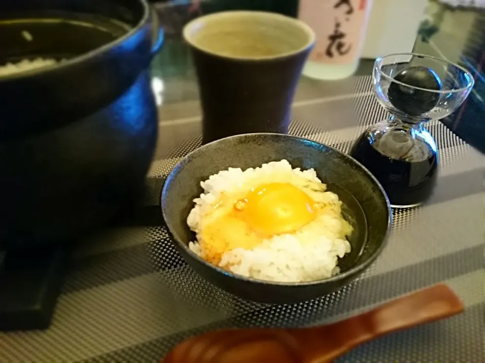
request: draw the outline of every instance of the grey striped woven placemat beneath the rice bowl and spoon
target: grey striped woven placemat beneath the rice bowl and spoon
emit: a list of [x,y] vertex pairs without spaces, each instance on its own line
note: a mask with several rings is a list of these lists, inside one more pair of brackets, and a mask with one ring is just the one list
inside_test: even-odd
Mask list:
[[[476,67],[479,61],[474,59],[468,61]],[[371,93],[369,65],[363,61],[358,75],[345,81],[303,78],[291,132],[347,151],[366,126],[386,116]],[[163,178],[200,145],[201,110],[188,51],[180,40],[168,39],[153,66],[161,108],[150,175]],[[438,282],[460,296],[463,314],[383,337],[337,361],[485,361],[484,157],[462,139],[467,134],[457,127],[478,123],[474,115],[482,111],[481,94],[475,92],[470,99],[459,117],[445,120],[448,127],[429,124],[440,157],[433,197],[419,208],[394,211],[389,245],[349,286],[296,305],[254,304],[193,272],[164,227],[107,230],[73,254],[51,328],[0,333],[0,361],[156,361],[184,337],[203,331],[324,324]]]

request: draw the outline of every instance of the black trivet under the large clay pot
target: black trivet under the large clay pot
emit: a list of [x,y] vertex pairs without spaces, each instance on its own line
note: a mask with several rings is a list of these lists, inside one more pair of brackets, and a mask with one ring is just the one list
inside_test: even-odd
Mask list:
[[[126,206],[114,226],[160,225],[164,180],[148,178],[141,207]],[[0,331],[49,327],[73,244],[66,241],[52,247],[5,252],[0,260]]]

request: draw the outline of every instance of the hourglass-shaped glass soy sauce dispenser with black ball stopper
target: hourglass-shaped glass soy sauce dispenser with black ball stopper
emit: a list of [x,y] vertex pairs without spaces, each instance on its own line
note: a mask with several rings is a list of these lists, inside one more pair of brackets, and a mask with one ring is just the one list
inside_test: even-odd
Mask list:
[[377,58],[372,78],[374,94],[391,116],[368,128],[350,154],[377,178],[393,207],[420,205],[438,176],[437,147],[424,125],[455,111],[473,77],[442,59],[402,53]]

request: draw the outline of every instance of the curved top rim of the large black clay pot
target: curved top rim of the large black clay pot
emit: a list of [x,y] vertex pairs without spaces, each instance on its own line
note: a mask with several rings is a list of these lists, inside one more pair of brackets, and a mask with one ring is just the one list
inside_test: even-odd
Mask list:
[[113,40],[109,43],[103,44],[102,46],[100,46],[98,48],[89,50],[89,51],[82,53],[78,56],[67,59],[64,62],[60,62],[60,63],[56,64],[55,66],[49,66],[49,67],[45,67],[45,68],[32,69],[32,70],[25,71],[25,72],[13,73],[13,74],[8,75],[8,76],[0,76],[0,84],[2,82],[19,80],[19,79],[23,79],[23,78],[36,76],[36,75],[39,75],[39,74],[50,74],[50,73],[54,73],[55,71],[58,71],[58,70],[67,69],[69,67],[83,63],[83,62],[87,61],[87,59],[89,59],[89,58],[92,58],[92,57],[98,56],[98,55],[100,55],[104,52],[107,52],[108,50],[115,47],[116,45],[118,45],[118,44],[122,43],[123,41],[127,40],[128,38],[134,36],[144,26],[144,23],[146,23],[148,21],[148,19],[150,18],[150,15],[151,15],[150,6],[149,6],[147,0],[137,0],[137,1],[142,6],[143,16],[141,17],[139,22],[134,27],[132,27],[129,31],[127,31],[121,37],[118,37],[118,38],[116,38],[115,40]]

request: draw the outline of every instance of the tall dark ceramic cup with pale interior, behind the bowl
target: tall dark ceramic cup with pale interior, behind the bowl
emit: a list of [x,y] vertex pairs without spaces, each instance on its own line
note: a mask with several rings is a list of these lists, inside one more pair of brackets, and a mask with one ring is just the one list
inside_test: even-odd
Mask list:
[[249,133],[286,134],[313,30],[279,14],[231,11],[183,29],[197,71],[203,143]]

